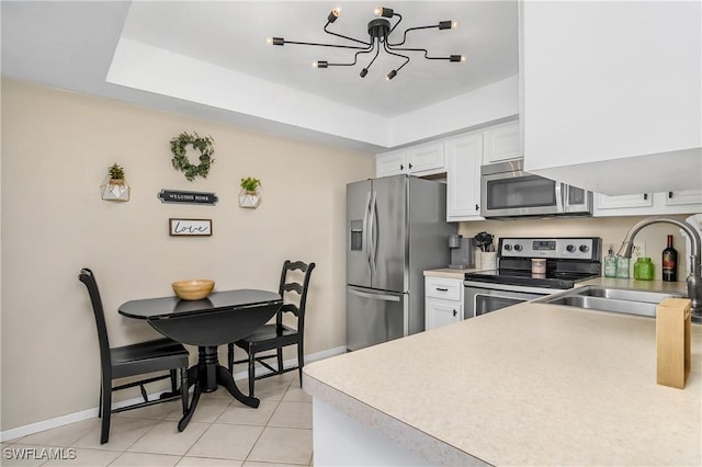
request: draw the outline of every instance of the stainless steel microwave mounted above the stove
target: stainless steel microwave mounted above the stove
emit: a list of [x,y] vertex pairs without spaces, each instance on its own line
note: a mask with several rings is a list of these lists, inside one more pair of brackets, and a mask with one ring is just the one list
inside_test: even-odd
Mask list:
[[523,159],[483,166],[485,218],[591,216],[592,192],[524,172]]

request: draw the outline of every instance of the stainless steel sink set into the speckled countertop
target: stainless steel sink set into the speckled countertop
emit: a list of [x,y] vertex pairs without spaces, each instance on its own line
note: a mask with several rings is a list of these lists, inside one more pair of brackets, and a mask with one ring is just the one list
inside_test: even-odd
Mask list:
[[655,318],[656,307],[660,301],[666,298],[680,297],[684,297],[684,295],[668,292],[632,291],[588,285],[565,293],[550,295],[548,297],[534,301]]

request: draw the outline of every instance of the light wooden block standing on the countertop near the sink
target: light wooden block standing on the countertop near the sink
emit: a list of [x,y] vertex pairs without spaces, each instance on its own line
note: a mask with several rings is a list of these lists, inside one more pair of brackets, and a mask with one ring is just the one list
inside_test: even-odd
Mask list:
[[690,299],[666,298],[656,308],[656,383],[684,389],[690,373]]

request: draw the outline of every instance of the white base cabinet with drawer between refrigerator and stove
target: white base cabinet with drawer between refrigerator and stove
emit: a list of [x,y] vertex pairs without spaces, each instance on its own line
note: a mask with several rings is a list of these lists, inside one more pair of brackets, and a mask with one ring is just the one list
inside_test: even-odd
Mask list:
[[424,277],[424,329],[434,329],[464,319],[463,280]]

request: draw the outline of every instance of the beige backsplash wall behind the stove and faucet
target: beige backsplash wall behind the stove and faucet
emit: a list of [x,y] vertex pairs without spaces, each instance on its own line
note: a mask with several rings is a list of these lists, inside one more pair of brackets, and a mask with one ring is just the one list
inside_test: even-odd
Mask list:
[[[670,216],[684,220],[689,215]],[[480,231],[492,234],[495,247],[502,237],[601,237],[603,254],[610,246],[614,247],[614,254],[622,244],[629,229],[645,217],[604,217],[604,218],[550,218],[534,220],[483,220],[477,223],[462,223],[458,234],[464,237],[473,237]],[[656,266],[656,280],[660,280],[660,257],[666,248],[668,235],[673,235],[672,244],[678,250],[678,281],[684,281],[687,276],[688,259],[686,258],[684,240],[678,227],[671,224],[654,224],[644,227],[636,236],[635,241],[645,242],[646,255],[650,257]],[[633,261],[632,261],[633,264]]]

